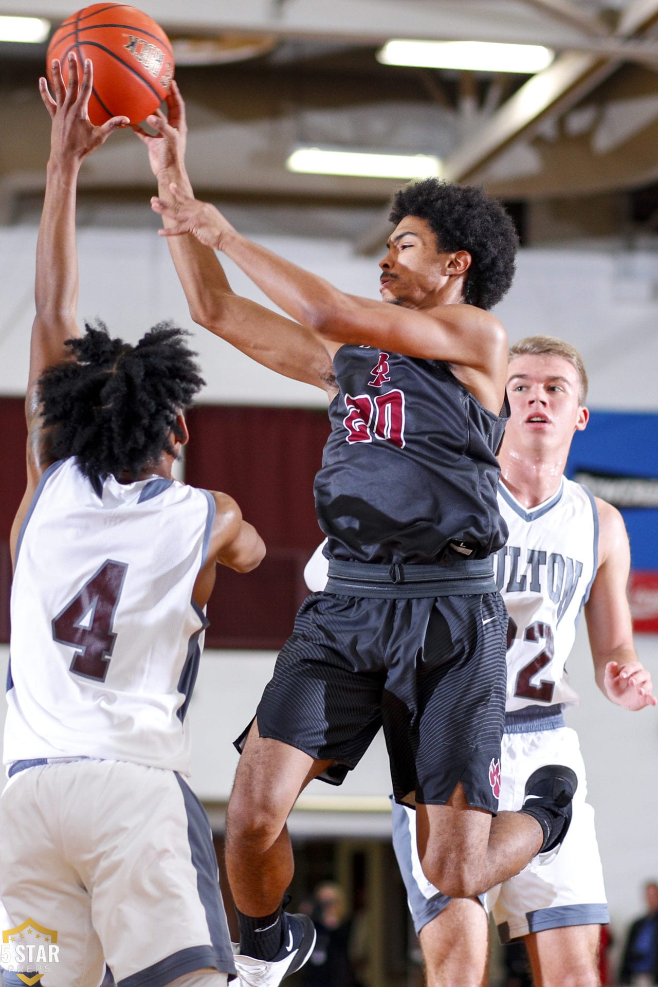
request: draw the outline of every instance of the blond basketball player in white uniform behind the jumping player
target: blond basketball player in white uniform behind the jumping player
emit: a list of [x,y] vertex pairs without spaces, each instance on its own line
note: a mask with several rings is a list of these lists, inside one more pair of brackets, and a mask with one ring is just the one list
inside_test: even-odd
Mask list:
[[[534,982],[599,984],[600,924],[608,906],[586,802],[585,769],[562,711],[577,702],[564,669],[584,609],[597,683],[626,710],[656,705],[637,660],[626,583],[628,539],[619,511],[562,476],[571,439],[587,425],[587,376],[566,342],[530,337],[510,349],[511,417],[499,453],[498,503],[509,528],[496,580],[510,621],[500,807],[521,804],[537,765],[559,761],[578,777],[562,845],[489,891],[503,943],[523,937]],[[452,900],[422,873],[413,813],[394,805],[394,845],[430,987],[480,987],[488,922],[477,899]]]

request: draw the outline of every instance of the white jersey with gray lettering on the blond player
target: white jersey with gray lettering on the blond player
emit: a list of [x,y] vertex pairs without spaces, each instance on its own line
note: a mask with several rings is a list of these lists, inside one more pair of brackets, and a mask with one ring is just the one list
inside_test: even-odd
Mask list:
[[509,528],[494,564],[510,617],[506,711],[574,706],[564,663],[598,568],[596,502],[563,478],[557,493],[531,510],[501,481],[498,504]]

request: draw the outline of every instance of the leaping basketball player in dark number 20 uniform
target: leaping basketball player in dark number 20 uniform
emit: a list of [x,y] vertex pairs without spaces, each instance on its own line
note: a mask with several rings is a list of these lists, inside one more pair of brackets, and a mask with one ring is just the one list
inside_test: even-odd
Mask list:
[[[488,309],[511,283],[516,234],[480,190],[418,183],[394,200],[383,301],[348,296],[192,197],[176,90],[171,111],[171,123],[149,118],[162,139],[144,139],[192,317],[331,399],[315,485],[329,591],[302,606],[279,655],[227,816],[236,966],[270,987],[314,941],[305,917],[282,912],[288,813],[313,778],[339,784],[381,725],[423,867],[452,894],[518,873],[568,824],[575,778],[561,768],[530,781],[522,811],[493,818],[507,617],[490,556],[506,537],[494,452],[508,409],[506,337]],[[290,319],[238,298],[212,248]]]

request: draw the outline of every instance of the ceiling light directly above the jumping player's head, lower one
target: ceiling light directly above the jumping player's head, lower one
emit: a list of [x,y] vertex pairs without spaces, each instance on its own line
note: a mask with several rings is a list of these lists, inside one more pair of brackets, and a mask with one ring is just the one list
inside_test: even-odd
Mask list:
[[371,179],[426,179],[440,174],[441,162],[430,154],[387,154],[298,147],[286,161],[290,172],[350,175]]

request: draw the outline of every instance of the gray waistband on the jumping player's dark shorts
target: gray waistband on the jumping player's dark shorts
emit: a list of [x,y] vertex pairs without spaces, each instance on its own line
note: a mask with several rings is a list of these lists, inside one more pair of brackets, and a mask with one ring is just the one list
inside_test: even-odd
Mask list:
[[470,596],[497,591],[493,562],[457,560],[435,566],[392,563],[382,566],[329,559],[326,590],[340,596]]

